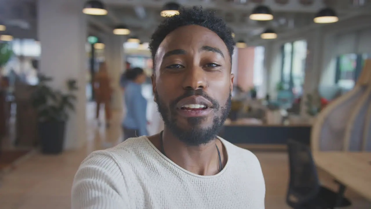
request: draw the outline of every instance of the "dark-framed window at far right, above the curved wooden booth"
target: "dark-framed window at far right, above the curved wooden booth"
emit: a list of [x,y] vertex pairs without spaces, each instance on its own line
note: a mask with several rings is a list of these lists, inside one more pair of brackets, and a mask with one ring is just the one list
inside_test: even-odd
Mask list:
[[342,54],[336,58],[335,83],[343,89],[352,89],[362,71],[368,54]]

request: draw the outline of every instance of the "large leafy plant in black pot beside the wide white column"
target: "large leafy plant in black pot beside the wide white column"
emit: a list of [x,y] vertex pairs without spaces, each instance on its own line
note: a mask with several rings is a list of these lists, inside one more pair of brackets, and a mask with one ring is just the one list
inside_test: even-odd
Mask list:
[[32,93],[32,105],[39,121],[39,137],[42,153],[59,154],[63,150],[65,126],[69,111],[74,110],[76,80],[66,81],[67,93],[48,85],[52,78],[39,74],[39,84]]

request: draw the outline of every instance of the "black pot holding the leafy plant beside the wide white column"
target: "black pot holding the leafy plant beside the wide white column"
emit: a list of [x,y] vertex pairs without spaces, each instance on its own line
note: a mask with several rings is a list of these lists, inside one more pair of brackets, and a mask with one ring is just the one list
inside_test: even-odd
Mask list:
[[41,151],[43,154],[60,154],[65,140],[65,121],[39,123]]

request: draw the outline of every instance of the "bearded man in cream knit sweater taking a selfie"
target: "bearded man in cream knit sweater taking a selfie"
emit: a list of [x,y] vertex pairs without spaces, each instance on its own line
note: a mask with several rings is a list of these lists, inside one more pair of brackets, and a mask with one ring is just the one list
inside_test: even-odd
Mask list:
[[198,7],[158,26],[150,49],[164,131],[89,155],[73,209],[264,208],[259,161],[216,136],[230,110],[234,44],[223,20]]

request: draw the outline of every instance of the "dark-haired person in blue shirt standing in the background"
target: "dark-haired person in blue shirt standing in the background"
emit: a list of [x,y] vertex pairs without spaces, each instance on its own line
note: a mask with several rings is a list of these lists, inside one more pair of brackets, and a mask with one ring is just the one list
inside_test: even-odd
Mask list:
[[132,68],[126,72],[125,105],[127,113],[122,121],[124,140],[147,133],[147,100],[142,95],[142,83],[146,75],[142,68]]

